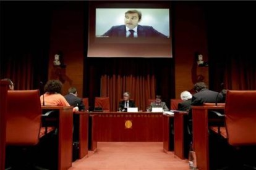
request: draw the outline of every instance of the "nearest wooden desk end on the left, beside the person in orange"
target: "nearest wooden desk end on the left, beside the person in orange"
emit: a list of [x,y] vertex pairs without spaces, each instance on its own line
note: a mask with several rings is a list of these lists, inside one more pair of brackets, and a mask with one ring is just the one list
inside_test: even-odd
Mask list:
[[58,170],[72,166],[73,107],[42,106],[43,110],[59,111]]

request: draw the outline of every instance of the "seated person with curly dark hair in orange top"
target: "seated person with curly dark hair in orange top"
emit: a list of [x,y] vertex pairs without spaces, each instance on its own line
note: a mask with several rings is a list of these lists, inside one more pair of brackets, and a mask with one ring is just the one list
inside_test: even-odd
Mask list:
[[[65,97],[61,94],[62,83],[58,79],[51,79],[45,84],[45,94],[40,96],[41,105],[45,106],[66,106],[69,107],[69,103]],[[73,111],[77,111],[77,108],[73,108]]]

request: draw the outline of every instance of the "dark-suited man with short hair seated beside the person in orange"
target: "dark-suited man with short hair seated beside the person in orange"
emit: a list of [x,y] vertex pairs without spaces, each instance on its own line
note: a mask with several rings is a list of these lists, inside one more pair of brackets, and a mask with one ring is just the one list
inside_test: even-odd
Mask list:
[[64,97],[71,106],[78,107],[79,111],[85,110],[83,100],[80,97],[77,97],[77,89],[75,87],[70,87],[69,94]]

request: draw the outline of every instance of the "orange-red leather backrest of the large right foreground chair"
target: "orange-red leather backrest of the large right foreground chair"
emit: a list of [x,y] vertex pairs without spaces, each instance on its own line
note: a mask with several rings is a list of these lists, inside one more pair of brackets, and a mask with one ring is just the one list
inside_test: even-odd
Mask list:
[[256,91],[228,91],[225,123],[228,143],[256,145]]

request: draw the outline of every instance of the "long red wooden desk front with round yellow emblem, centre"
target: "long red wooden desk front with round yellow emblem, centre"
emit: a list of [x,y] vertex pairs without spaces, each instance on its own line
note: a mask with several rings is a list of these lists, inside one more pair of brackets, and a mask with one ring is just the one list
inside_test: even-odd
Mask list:
[[[91,112],[91,143],[163,142],[163,113]],[[92,147],[93,148],[93,147]]]

